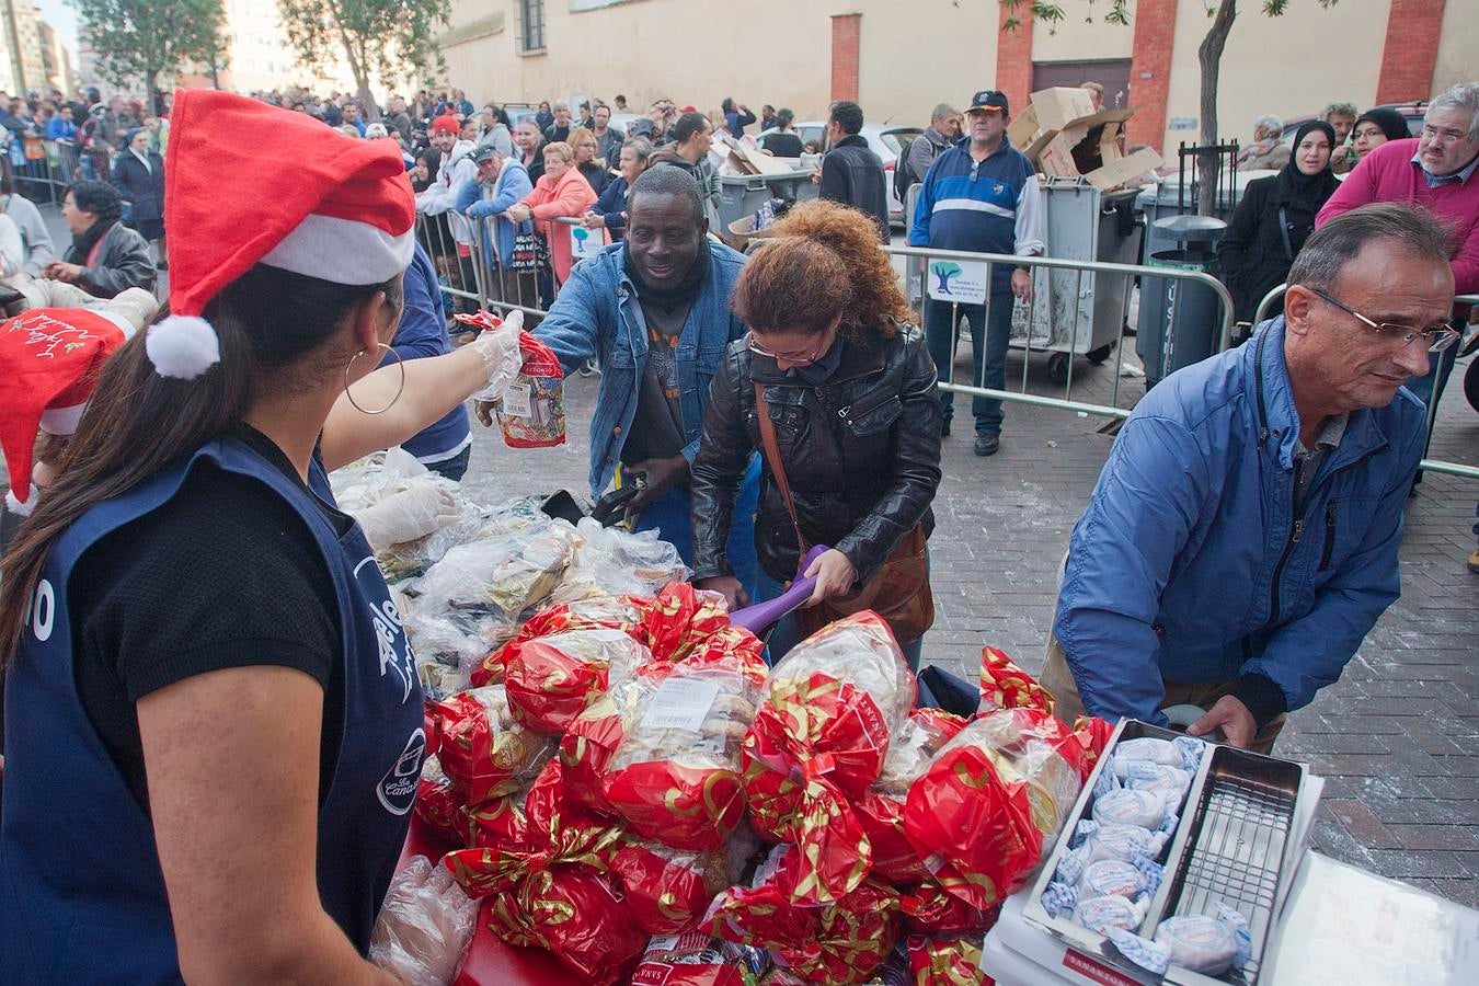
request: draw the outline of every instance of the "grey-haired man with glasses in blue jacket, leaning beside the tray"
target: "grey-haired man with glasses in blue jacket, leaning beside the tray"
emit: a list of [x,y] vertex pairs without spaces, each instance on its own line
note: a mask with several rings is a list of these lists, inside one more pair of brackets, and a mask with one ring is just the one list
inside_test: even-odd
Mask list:
[[1208,711],[1268,752],[1401,590],[1423,404],[1402,384],[1457,340],[1446,234],[1367,205],[1304,244],[1284,315],[1151,390],[1074,528],[1043,684],[1059,714]]

